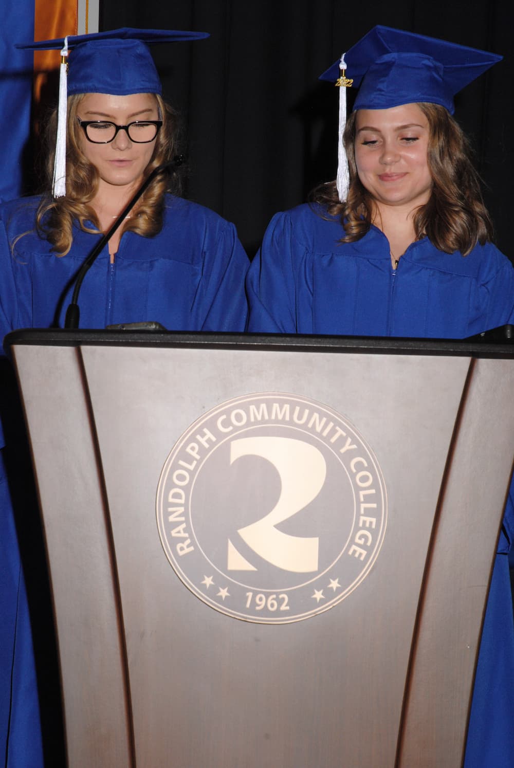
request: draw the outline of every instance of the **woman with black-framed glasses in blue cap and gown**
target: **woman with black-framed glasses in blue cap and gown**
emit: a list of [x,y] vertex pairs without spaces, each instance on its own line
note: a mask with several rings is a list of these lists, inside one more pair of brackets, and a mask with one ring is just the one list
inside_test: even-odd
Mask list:
[[[151,171],[176,157],[177,118],[145,43],[204,35],[150,34],[69,38],[65,117],[61,104],[48,126],[47,191],[0,207],[0,332],[63,326],[75,276],[101,234]],[[173,171],[151,181],[85,276],[80,327],[153,320],[170,330],[244,329],[247,257],[235,228],[179,195]]]

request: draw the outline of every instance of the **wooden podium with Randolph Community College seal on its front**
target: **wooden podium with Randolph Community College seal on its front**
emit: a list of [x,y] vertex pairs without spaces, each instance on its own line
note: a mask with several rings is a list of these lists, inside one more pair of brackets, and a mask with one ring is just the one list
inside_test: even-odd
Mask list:
[[17,332],[71,768],[463,760],[514,352]]

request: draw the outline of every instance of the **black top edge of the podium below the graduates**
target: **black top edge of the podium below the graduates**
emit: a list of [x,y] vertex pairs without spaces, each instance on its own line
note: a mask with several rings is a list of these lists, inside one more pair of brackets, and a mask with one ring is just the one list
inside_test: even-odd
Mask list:
[[[508,328],[510,326],[507,326]],[[434,356],[514,357],[509,333],[495,329],[472,339],[403,339],[376,336],[287,336],[261,333],[200,333],[133,330],[22,329],[8,333],[14,346],[148,346],[205,349],[257,349],[297,352],[369,353]]]

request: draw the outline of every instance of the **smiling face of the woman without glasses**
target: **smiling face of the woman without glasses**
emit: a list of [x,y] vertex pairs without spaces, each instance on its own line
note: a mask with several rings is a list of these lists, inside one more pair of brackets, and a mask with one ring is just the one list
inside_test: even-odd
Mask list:
[[426,204],[432,192],[429,123],[417,104],[356,113],[355,163],[380,210]]

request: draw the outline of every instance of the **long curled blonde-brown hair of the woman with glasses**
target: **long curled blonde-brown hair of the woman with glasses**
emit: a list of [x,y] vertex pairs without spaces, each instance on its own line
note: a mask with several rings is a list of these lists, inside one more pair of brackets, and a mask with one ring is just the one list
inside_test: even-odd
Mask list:
[[[161,96],[153,94],[157,100],[162,120],[161,130],[155,139],[154,154],[144,171],[147,177],[154,168],[174,158],[177,153],[177,114]],[[78,106],[84,94],[68,97],[68,131],[66,137],[66,195],[51,197],[46,193],[36,214],[36,228],[48,240],[58,256],[65,256],[71,248],[73,223],[78,221],[85,232],[98,232],[100,225],[95,210],[91,207],[98,190],[98,170],[81,151],[77,120]],[[51,188],[54,173],[55,137],[57,135],[57,110],[52,111],[46,130],[48,160],[46,162],[47,187]],[[153,237],[162,228],[164,212],[164,194],[171,191],[180,194],[180,177],[175,173],[158,176],[138,201],[136,215],[126,220],[122,232],[136,232],[143,237]],[[93,225],[88,226],[86,222]]]

